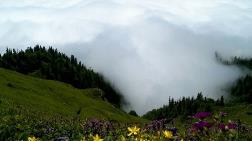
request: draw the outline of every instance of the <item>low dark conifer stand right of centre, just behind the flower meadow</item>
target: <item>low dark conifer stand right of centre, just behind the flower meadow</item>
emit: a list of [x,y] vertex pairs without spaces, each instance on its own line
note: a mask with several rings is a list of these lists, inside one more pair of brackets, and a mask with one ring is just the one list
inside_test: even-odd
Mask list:
[[223,102],[224,98],[222,97],[221,99],[222,100],[215,101],[213,99],[203,97],[201,93],[199,93],[196,98],[183,97],[177,101],[169,99],[169,103],[167,105],[147,112],[143,115],[143,118],[155,120],[182,117],[185,119],[187,116],[193,115],[198,111],[212,112],[214,106],[223,106],[224,103],[221,103],[220,101]]

